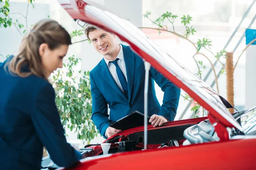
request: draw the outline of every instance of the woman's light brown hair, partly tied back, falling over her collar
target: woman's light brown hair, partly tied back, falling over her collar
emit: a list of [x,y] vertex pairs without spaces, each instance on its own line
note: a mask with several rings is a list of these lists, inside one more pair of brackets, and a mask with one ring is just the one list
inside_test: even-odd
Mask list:
[[[44,19],[35,24],[30,32],[22,39],[19,53],[6,63],[8,71],[19,77],[28,77],[34,74],[38,77],[48,79],[44,71],[39,46],[46,43],[50,50],[58,48],[60,45],[72,44],[68,32],[55,20]],[[24,66],[29,71],[22,71]]]

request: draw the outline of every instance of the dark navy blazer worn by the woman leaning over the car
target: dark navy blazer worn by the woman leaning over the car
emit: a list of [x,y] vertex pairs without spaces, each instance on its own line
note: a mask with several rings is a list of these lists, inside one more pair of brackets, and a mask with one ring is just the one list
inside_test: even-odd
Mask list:
[[0,80],[0,169],[41,169],[43,146],[59,166],[76,164],[81,154],[66,141],[52,85],[34,75],[14,77],[3,63]]

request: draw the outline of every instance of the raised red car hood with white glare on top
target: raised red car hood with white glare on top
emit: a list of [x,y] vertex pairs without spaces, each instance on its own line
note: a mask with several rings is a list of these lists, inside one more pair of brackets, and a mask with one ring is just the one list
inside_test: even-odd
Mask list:
[[87,0],[58,0],[58,2],[74,20],[82,20],[113,32],[122,41],[131,45],[131,48],[140,57],[207,109],[215,122],[221,123],[225,127],[236,127],[243,131],[217,92],[169,54],[162,51],[128,20],[121,19],[105,11],[104,7],[99,4]]

